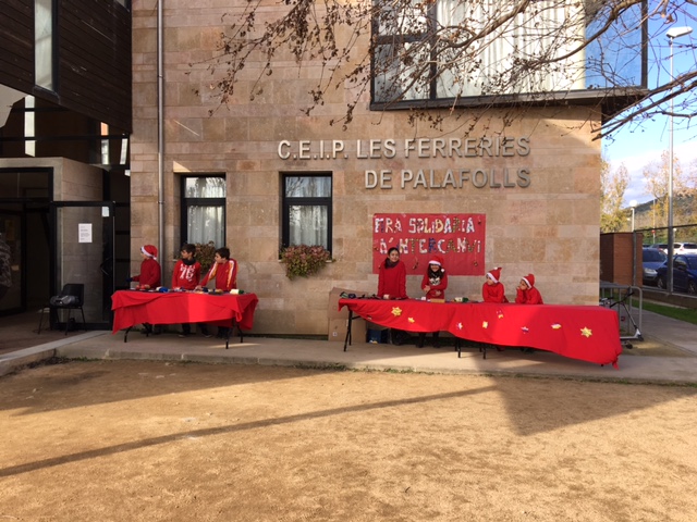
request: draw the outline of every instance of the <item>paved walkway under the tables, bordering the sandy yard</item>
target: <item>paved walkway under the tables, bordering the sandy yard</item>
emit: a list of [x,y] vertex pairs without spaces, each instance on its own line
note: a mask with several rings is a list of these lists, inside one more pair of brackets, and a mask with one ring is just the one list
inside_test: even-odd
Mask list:
[[[489,351],[484,359],[478,349],[467,348],[458,358],[452,348],[417,349],[413,345],[354,344],[343,351],[343,343],[306,339],[246,337],[244,343],[224,343],[203,337],[179,338],[173,334],[146,337],[87,332],[71,335],[24,350],[0,355],[0,375],[50,357],[86,359],[144,359],[197,361],[205,363],[302,365],[378,371],[448,374],[508,374],[592,378],[608,381],[697,384],[697,326],[651,312],[644,312],[641,333],[660,340],[687,357],[620,356],[619,369],[566,359],[545,351],[524,353],[517,349]],[[239,340],[239,339],[233,339]],[[634,343],[640,350],[641,343]]]

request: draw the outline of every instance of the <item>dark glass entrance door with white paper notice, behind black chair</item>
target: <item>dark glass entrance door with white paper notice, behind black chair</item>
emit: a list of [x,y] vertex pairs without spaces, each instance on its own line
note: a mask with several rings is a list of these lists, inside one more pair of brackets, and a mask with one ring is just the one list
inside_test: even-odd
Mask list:
[[[111,330],[114,293],[114,203],[111,201],[56,201],[53,225],[52,294],[69,283],[85,285],[87,330]],[[65,315],[51,318],[59,328]],[[77,315],[77,316],[76,316]],[[80,312],[72,318],[82,321]]]

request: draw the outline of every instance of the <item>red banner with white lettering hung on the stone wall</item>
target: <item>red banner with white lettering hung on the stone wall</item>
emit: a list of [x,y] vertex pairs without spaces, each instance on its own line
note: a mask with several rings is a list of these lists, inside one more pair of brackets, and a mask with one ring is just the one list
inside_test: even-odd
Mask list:
[[449,275],[484,275],[486,224],[485,214],[375,214],[372,272],[396,247],[408,275],[426,273],[431,256]]

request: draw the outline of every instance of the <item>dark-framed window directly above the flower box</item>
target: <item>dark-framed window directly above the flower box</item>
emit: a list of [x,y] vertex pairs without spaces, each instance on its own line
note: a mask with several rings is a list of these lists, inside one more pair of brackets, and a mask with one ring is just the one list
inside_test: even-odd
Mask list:
[[331,175],[282,176],[282,247],[321,245],[331,250]]

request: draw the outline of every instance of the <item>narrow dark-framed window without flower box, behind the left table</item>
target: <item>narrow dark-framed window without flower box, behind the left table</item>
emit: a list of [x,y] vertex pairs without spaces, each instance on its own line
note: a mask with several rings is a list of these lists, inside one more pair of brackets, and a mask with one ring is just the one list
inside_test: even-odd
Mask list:
[[225,245],[224,176],[182,176],[182,244]]

